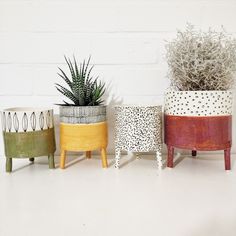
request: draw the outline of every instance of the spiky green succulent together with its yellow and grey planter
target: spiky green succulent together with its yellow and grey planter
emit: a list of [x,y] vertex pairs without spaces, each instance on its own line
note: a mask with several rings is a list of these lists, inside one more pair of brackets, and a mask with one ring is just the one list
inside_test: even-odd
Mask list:
[[61,131],[61,168],[65,167],[66,151],[86,151],[91,157],[91,151],[100,149],[103,167],[107,167],[107,123],[106,106],[102,96],[105,93],[105,83],[93,78],[90,58],[80,65],[75,58],[66,58],[70,75],[59,68],[59,76],[66,82],[67,87],[56,84],[56,89],[69,101],[60,105]]

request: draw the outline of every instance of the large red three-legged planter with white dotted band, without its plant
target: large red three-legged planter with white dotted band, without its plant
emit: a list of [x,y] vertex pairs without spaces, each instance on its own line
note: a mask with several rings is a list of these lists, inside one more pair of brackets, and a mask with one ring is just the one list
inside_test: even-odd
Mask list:
[[224,150],[230,169],[232,143],[231,91],[168,91],[165,94],[167,166],[173,167],[174,148],[196,151]]

